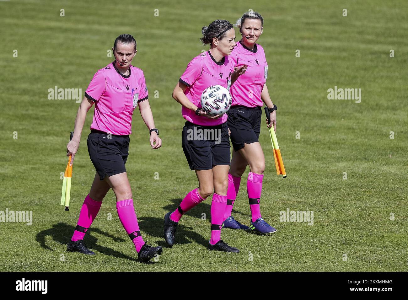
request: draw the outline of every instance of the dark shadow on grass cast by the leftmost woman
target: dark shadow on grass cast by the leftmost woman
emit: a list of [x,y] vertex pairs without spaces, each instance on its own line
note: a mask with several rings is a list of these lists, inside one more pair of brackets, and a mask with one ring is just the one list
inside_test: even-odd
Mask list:
[[[65,224],[65,223],[53,224],[52,228],[49,228],[49,229],[46,229],[46,230],[43,230],[43,231],[40,231],[39,233],[37,233],[35,239],[37,240],[37,242],[40,243],[42,248],[44,248],[46,250],[54,251],[49,246],[47,246],[47,244],[45,242],[45,237],[46,236],[51,236],[55,242],[59,242],[60,244],[65,244],[66,245],[69,242],[69,240],[71,239],[71,236],[72,236],[74,230],[75,230],[75,227],[72,226],[72,225],[68,225],[68,224]],[[100,230],[98,228],[92,228],[91,227],[91,229],[89,231],[91,231],[91,233],[99,233],[99,234],[102,234],[104,236],[107,236],[108,238],[112,238],[112,240],[114,240],[115,242],[125,242],[124,239],[112,236],[110,233],[108,233],[106,231],[103,231],[103,230]],[[131,256],[124,255],[123,253],[120,253],[118,251],[115,251],[115,250],[113,250],[111,248],[98,245],[97,242],[98,242],[98,238],[96,238],[93,235],[90,235],[89,233],[86,234],[85,244],[90,249],[99,251],[100,253],[103,253],[105,255],[110,255],[110,256],[117,257],[117,258],[126,258],[126,259],[129,259],[129,260],[137,261],[136,251],[135,251],[135,257],[131,257]]]

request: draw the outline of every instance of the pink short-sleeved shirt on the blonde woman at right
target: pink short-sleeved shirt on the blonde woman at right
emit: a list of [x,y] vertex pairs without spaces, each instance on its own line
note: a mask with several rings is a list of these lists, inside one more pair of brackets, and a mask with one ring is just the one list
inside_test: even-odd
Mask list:
[[268,77],[268,63],[264,49],[255,44],[253,50],[246,48],[241,41],[237,43],[231,54],[235,67],[248,65],[245,74],[238,77],[231,86],[231,105],[246,107],[262,106],[261,92]]

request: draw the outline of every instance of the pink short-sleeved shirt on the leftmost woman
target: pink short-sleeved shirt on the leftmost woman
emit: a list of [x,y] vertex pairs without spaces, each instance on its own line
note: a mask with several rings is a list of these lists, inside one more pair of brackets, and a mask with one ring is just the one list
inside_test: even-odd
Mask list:
[[132,133],[133,110],[149,97],[143,71],[131,65],[123,75],[115,62],[95,73],[85,96],[95,102],[91,129],[120,136]]

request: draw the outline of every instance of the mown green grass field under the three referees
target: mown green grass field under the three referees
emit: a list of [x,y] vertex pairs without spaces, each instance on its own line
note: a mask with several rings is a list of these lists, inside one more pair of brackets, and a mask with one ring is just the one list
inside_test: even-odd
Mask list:
[[[79,104],[49,100],[48,89],[83,93],[95,71],[113,61],[107,51],[115,38],[135,36],[133,64],[144,70],[163,147],[151,150],[135,111],[126,169],[144,239],[164,247],[164,214],[197,186],[181,147],[181,106],[171,92],[191,58],[208,49],[199,41],[202,26],[217,18],[233,22],[248,9],[264,17],[259,43],[279,107],[277,137],[288,174],[276,175],[263,125],[261,211],[277,233],[225,229],[222,238],[241,252],[208,251],[208,199],[182,218],[172,249],[142,264],[110,191],[85,238],[97,255],[67,253],[95,172],[86,149],[93,108],[75,157],[67,212],[59,204],[60,173]],[[33,211],[30,226],[0,222],[0,271],[407,271],[406,11],[402,0],[0,1],[0,211]],[[328,100],[335,86],[361,88],[361,102]],[[250,219],[248,171],[233,210],[244,224]],[[287,209],[313,211],[313,225],[279,222]]]

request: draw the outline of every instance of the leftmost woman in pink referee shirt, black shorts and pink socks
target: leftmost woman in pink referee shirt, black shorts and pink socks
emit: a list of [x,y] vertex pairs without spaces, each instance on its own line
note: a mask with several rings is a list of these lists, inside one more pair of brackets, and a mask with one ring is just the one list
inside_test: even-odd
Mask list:
[[112,51],[115,61],[97,71],[86,89],[75,119],[73,138],[67,145],[67,156],[72,156],[72,163],[78,151],[86,113],[95,104],[87,144],[96,174],[67,250],[95,255],[86,248],[83,239],[98,214],[102,199],[112,189],[119,220],[135,245],[137,256],[141,261],[148,261],[156,254],[160,255],[162,247],[151,247],[140,235],[125,168],[133,110],[136,107],[139,107],[150,131],[152,149],[160,148],[162,141],[153,121],[143,71],[131,65],[137,51],[136,40],[130,34],[122,34],[116,38]]

